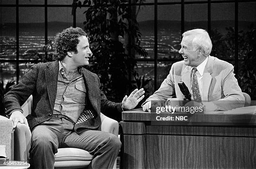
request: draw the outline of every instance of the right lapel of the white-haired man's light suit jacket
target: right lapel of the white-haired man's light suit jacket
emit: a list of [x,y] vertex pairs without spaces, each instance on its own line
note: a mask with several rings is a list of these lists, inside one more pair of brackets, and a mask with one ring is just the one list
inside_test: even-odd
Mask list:
[[202,101],[208,102],[208,94],[210,85],[212,82],[212,66],[213,66],[213,57],[208,56],[208,61],[205,65],[205,70],[202,77]]

